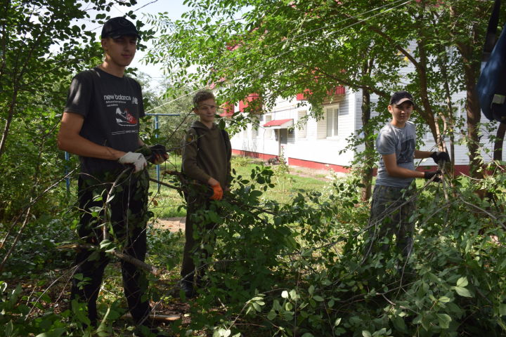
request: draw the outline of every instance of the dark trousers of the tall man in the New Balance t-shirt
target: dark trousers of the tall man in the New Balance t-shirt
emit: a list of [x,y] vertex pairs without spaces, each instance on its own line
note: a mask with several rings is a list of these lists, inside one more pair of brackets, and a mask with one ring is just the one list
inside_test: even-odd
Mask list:
[[[141,173],[144,174],[144,173]],[[147,174],[147,173],[145,173]],[[107,196],[104,190],[110,189],[111,185],[98,183],[97,180],[79,178],[79,209],[82,211],[79,222],[79,237],[88,244],[98,245],[103,239],[102,227],[105,222],[104,211],[100,216],[92,215],[91,208],[103,208]],[[146,223],[148,220],[146,207],[148,201],[148,188],[141,186],[142,183],[131,176],[126,176],[117,188],[115,196],[110,201],[109,228],[110,239],[115,239],[118,249],[122,252],[143,261],[146,253]],[[103,200],[93,201],[93,197],[102,194]],[[96,211],[96,210],[95,210]],[[96,300],[103,273],[110,259],[105,253],[97,253],[96,250],[83,249],[77,253],[76,274],[89,277],[89,281],[79,285],[78,279],[72,281],[71,298],[77,298],[88,306],[88,315],[91,324],[96,325],[97,309]],[[150,306],[144,293],[148,287],[145,272],[138,270],[131,263],[121,261],[124,293],[129,310],[136,323],[143,321],[150,312]]]

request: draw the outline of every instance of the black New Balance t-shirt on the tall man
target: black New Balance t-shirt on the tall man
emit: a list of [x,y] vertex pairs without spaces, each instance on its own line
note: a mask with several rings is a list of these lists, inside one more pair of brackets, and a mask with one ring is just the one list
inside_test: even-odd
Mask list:
[[[98,67],[72,79],[65,112],[84,117],[80,136],[98,145],[124,152],[138,147],[139,118],[144,117],[141,86],[129,77],[117,77]],[[117,161],[79,157],[82,173],[124,169]]]

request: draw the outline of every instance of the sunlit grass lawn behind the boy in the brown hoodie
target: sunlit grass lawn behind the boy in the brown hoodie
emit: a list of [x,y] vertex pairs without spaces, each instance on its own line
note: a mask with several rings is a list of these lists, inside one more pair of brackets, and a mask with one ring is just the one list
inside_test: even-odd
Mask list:
[[[262,161],[247,157],[233,157],[232,169],[235,169],[236,175],[247,178],[251,175],[255,166],[262,165]],[[167,164],[160,166],[160,171],[177,170],[181,171],[181,157],[171,157]],[[327,181],[317,178],[301,177],[296,174],[290,174],[290,168],[283,165],[273,166],[274,177],[272,183],[275,187],[265,194],[266,198],[278,201],[281,204],[289,202],[299,192],[321,191],[328,185]],[[156,178],[155,166],[150,168],[150,176]],[[169,176],[162,176],[162,180],[169,183]],[[320,178],[320,179],[318,179]],[[233,188],[233,187],[232,187]],[[155,213],[156,218],[174,218],[186,216],[186,209],[183,207],[183,198],[176,191],[169,187],[161,186],[158,190],[157,183],[151,183],[150,191],[151,203],[150,209]]]

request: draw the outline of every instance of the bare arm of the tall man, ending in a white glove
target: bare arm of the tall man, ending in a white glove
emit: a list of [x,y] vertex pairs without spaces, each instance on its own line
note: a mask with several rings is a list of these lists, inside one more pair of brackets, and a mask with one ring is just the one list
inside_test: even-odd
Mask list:
[[[118,160],[126,152],[115,150],[112,147],[98,145],[79,135],[84,117],[72,112],[63,112],[58,131],[58,148],[82,157]],[[139,143],[142,140],[139,138]]]

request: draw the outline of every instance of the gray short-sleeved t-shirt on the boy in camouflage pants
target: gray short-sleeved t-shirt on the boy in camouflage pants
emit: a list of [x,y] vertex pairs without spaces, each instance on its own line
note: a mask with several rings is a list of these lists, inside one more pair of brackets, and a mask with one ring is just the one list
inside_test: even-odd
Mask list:
[[[381,155],[396,154],[397,166],[404,169],[414,170],[415,163],[415,124],[406,122],[403,128],[393,126],[391,123],[385,125],[376,138],[376,150]],[[414,178],[398,178],[389,176],[384,166],[383,157],[380,157],[378,164],[376,185],[391,187],[408,187]]]

